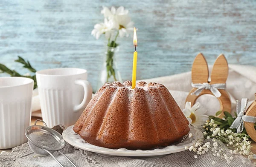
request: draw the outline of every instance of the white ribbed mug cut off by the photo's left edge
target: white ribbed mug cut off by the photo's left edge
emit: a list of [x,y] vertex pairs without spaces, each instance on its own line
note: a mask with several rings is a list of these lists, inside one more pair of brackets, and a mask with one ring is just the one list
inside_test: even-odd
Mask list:
[[0,77],[0,149],[27,142],[34,81],[23,77]]

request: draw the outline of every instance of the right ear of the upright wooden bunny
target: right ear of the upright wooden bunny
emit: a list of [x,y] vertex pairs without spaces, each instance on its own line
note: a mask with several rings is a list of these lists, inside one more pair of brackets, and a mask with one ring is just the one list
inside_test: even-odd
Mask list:
[[226,83],[228,76],[228,64],[224,54],[218,56],[212,68],[211,84]]

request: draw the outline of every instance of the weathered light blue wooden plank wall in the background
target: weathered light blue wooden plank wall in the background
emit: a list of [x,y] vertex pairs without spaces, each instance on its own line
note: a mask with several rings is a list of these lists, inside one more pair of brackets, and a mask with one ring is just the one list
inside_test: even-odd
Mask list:
[[[209,64],[221,53],[229,63],[256,64],[255,0],[0,0],[0,63],[22,71],[20,55],[37,70],[86,68],[95,90],[106,41],[90,32],[103,21],[102,6],[124,6],[139,29],[137,79],[189,71],[198,52]],[[128,80],[132,38],[118,42]]]

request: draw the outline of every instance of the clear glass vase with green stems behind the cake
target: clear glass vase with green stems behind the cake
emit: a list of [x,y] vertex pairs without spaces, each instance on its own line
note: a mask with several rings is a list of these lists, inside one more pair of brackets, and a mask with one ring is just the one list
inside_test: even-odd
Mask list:
[[120,72],[117,68],[117,61],[118,61],[118,51],[119,46],[116,48],[107,46],[104,55],[104,63],[102,65],[102,70],[99,75],[98,80],[98,89],[102,87],[106,82],[114,82],[119,81],[122,83],[122,78]]

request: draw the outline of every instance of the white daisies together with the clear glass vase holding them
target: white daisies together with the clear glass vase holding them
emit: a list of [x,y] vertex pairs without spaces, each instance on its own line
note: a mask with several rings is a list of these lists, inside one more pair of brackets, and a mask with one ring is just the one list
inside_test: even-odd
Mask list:
[[128,16],[128,10],[125,10],[123,6],[117,9],[112,6],[111,10],[103,7],[101,13],[104,15],[104,23],[94,25],[94,29],[91,32],[96,39],[99,39],[102,34],[105,34],[108,41],[99,87],[105,82],[122,82],[121,76],[116,68],[114,56],[119,46],[116,40],[117,37],[128,37],[134,28],[134,22],[131,21],[131,17]]

